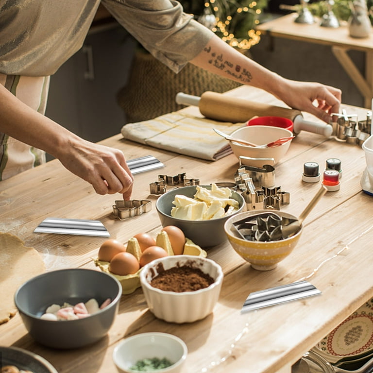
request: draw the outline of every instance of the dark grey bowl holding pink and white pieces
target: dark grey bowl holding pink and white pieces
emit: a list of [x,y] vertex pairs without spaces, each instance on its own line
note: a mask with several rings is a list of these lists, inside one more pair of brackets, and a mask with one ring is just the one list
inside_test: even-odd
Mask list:
[[[85,269],[51,271],[36,276],[21,285],[15,294],[15,304],[30,335],[39,343],[53,348],[76,348],[104,337],[118,313],[122,287],[107,273]],[[48,306],[75,305],[94,298],[102,310],[79,320],[49,321],[40,319]]]

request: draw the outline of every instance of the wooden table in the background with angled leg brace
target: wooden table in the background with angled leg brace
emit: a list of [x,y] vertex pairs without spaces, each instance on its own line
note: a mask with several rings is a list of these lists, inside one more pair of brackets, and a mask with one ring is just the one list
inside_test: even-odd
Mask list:
[[[273,37],[300,40],[308,43],[329,45],[333,54],[355,83],[364,97],[364,106],[370,108],[373,98],[373,33],[366,38],[349,36],[346,22],[339,28],[321,27],[314,24],[295,23],[298,15],[291,13],[256,26],[256,30]],[[348,55],[349,50],[365,52],[365,76],[363,76]]]

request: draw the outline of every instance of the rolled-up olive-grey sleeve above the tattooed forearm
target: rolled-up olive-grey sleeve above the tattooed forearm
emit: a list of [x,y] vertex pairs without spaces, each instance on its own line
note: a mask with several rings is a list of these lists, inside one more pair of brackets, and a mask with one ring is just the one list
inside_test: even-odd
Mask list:
[[180,71],[213,36],[174,0],[102,0],[118,22],[155,58]]

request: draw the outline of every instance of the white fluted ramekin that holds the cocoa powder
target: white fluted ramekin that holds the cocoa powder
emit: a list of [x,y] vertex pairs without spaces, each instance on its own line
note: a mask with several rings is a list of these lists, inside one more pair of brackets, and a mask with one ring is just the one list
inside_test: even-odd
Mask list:
[[[176,266],[198,268],[213,279],[209,287],[196,291],[164,291],[150,285],[162,270]],[[174,255],[155,259],[140,272],[141,287],[150,311],[167,322],[195,322],[209,315],[218,302],[223,272],[219,264],[211,259],[193,255]]]

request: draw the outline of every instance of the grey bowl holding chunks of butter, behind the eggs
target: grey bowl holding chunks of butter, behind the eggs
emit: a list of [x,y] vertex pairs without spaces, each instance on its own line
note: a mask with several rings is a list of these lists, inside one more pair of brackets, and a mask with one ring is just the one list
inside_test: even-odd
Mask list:
[[[203,187],[211,189],[211,186]],[[196,191],[196,186],[183,186],[162,194],[155,204],[161,224],[163,227],[167,225],[175,225],[179,227],[184,232],[185,237],[191,239],[199,246],[208,247],[219,245],[227,240],[227,236],[224,232],[225,221],[238,212],[243,211],[245,201],[241,194],[232,191],[231,198],[239,203],[239,210],[235,214],[211,220],[185,220],[172,217],[170,213],[171,208],[174,206],[172,202],[175,199],[176,194],[183,194],[187,197],[193,198]]]

